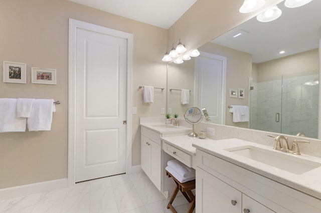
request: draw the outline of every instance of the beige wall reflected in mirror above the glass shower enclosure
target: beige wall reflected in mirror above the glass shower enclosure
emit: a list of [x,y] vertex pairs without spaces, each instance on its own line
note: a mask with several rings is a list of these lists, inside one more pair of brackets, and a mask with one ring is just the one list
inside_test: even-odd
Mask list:
[[316,71],[316,73],[318,73],[319,52],[318,49],[312,49],[275,60],[258,63],[257,70],[257,78],[259,81],[264,78],[304,71]]

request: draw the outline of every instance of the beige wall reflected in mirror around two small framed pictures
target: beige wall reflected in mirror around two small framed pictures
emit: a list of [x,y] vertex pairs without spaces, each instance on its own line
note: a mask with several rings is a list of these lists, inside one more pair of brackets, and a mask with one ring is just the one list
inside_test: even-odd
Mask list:
[[[248,82],[249,77],[252,76],[252,55],[211,42],[199,47],[199,50],[227,57],[226,106],[248,105]],[[230,88],[244,88],[244,98],[230,97]],[[232,113],[228,108],[226,108],[225,124],[248,127],[248,122],[233,122]]]

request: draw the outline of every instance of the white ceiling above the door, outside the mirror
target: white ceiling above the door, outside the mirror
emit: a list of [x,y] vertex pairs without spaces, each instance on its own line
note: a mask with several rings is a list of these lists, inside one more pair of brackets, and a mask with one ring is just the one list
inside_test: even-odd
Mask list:
[[154,26],[170,28],[197,0],[70,0]]

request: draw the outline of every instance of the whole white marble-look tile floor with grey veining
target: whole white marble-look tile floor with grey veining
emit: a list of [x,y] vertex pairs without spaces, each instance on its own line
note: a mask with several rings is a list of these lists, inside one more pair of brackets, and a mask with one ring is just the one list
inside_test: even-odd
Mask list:
[[[180,192],[179,192],[180,193]],[[181,193],[180,193],[181,194]],[[144,172],[76,183],[74,187],[0,200],[1,213],[170,213],[168,200]],[[175,209],[187,212],[184,196]],[[194,210],[195,212],[195,210]]]

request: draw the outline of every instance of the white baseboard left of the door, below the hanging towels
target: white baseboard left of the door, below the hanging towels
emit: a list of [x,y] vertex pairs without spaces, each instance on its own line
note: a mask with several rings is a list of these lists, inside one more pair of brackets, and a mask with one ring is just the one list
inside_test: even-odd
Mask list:
[[0,189],[0,200],[12,197],[25,196],[28,194],[40,193],[68,186],[67,178],[37,182],[27,185],[19,185]]

